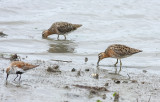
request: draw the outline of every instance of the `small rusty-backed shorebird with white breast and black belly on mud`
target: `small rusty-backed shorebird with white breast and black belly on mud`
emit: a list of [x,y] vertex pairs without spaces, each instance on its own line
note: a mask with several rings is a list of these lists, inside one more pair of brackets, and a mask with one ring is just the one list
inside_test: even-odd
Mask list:
[[[17,74],[16,78],[18,77],[18,75],[20,75],[20,77],[19,77],[19,81],[20,81],[21,74],[23,74],[26,70],[35,68],[37,66],[39,66],[39,65],[32,65],[29,63],[25,63],[23,61],[14,61],[6,69],[6,73],[7,73],[6,81],[8,79],[9,74]],[[16,78],[14,79],[14,81],[16,80]]]

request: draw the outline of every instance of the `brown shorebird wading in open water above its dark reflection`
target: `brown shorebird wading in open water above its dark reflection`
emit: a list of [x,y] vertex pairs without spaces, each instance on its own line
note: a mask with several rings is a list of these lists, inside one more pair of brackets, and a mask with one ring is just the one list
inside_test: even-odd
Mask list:
[[73,30],[81,27],[81,24],[72,24],[68,22],[55,22],[51,25],[48,30],[42,32],[42,37],[47,38],[52,34],[58,34],[57,39],[59,39],[59,35],[63,35],[66,39],[66,34],[70,33]]

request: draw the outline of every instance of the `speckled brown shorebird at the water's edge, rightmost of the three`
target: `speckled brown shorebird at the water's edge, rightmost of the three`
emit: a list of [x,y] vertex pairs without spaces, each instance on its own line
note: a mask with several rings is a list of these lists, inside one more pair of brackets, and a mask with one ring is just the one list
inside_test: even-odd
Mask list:
[[114,64],[114,66],[116,66],[118,63],[118,60],[120,60],[120,70],[119,71],[121,71],[121,66],[122,66],[121,59],[129,57],[129,56],[136,54],[136,53],[139,53],[139,52],[142,52],[142,50],[131,48],[126,45],[113,44],[113,45],[110,45],[105,50],[105,52],[101,52],[98,54],[97,66],[99,66],[99,62],[104,58],[108,58],[108,57],[116,58],[117,62]]

